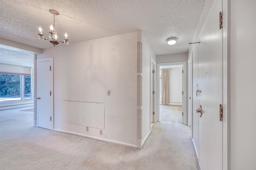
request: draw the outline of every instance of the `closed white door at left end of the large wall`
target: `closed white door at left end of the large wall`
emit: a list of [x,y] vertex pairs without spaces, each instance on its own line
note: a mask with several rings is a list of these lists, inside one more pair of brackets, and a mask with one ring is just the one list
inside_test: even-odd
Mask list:
[[36,64],[38,127],[52,129],[52,60],[41,59]]

